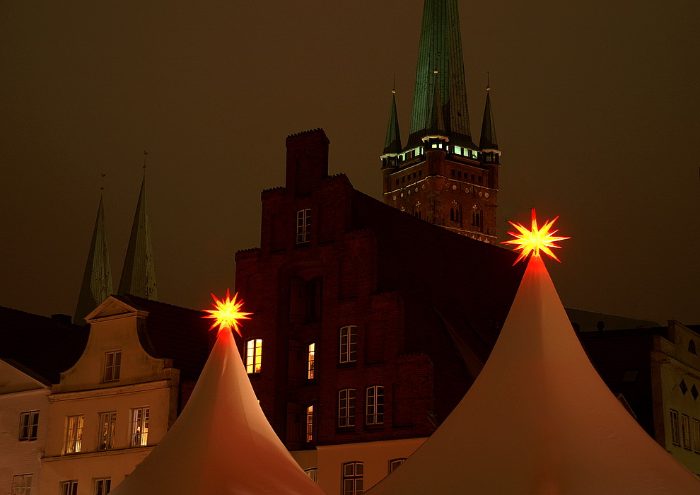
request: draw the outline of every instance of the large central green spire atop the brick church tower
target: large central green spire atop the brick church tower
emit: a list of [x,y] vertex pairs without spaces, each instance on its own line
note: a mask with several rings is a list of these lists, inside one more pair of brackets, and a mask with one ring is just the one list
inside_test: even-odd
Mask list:
[[[438,71],[439,78],[434,78]],[[438,84],[445,133],[450,142],[476,148],[469,130],[467,84],[457,0],[426,0],[416,68],[416,89],[407,148],[421,143],[430,126],[433,86]]]

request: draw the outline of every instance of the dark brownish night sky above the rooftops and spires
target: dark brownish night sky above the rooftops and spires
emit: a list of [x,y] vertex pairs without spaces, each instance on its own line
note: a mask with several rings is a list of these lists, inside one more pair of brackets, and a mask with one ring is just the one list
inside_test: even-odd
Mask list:
[[[208,308],[259,246],[284,139],[379,198],[395,74],[404,139],[423,2],[0,4],[0,305],[72,315],[104,179],[119,284],[141,177],[159,300]],[[506,219],[561,215],[564,305],[700,323],[696,0],[460,1],[472,134],[490,71]],[[416,260],[419,262],[419,260]]]

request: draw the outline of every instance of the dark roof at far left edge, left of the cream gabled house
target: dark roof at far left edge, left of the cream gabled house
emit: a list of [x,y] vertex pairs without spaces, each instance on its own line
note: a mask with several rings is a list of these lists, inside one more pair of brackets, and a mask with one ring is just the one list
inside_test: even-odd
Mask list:
[[0,307],[0,357],[52,383],[78,361],[87,342],[87,326]]

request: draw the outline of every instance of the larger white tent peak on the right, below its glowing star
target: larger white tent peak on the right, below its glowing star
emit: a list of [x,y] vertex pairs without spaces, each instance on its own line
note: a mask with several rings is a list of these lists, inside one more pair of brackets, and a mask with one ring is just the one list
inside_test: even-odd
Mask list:
[[542,258],[532,257],[472,388],[367,493],[697,495],[700,480],[602,382]]

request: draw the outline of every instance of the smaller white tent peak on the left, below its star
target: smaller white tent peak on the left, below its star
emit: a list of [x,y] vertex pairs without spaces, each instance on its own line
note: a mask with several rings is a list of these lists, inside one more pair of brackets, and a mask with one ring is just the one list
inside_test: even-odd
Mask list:
[[322,494],[274,433],[228,329],[187,406],[112,495]]

